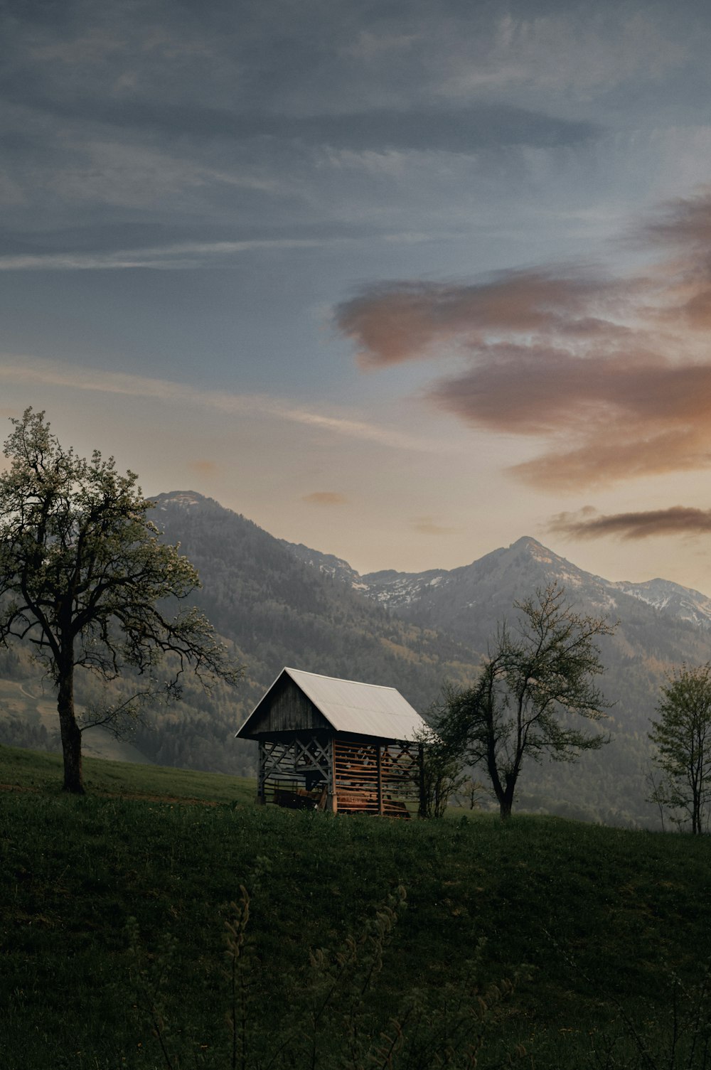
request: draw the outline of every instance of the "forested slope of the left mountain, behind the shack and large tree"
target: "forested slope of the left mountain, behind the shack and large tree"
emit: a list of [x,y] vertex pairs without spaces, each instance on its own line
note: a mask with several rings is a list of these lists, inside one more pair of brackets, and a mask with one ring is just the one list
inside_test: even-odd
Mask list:
[[[135,751],[111,756],[249,775],[255,746],[235,733],[285,666],[396,687],[424,713],[443,679],[468,678],[480,660],[457,641],[400,621],[297,561],[257,524],[210,499],[162,494],[152,519],[197,567],[202,588],[194,601],[245,676],[238,688],[218,684],[211,694],[185,676],[182,701],[153,706],[132,735]],[[0,675],[29,685],[0,692],[0,742],[56,748],[51,687],[43,690],[27,649],[0,657]],[[123,678],[118,689],[128,693],[136,686]],[[81,703],[103,698],[86,673],[78,675],[77,697]]]

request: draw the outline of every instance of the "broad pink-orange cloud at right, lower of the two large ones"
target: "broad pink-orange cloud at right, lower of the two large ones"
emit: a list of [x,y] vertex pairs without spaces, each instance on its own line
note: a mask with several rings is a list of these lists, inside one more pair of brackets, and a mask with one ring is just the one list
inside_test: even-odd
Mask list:
[[711,464],[711,365],[664,363],[609,339],[586,356],[496,345],[478,357],[429,398],[472,426],[547,440],[514,467],[526,482],[575,490]]

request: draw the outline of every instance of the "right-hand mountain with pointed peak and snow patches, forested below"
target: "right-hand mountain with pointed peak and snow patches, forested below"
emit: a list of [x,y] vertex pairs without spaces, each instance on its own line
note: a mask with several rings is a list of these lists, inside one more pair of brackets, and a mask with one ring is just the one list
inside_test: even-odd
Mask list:
[[[284,544],[288,546],[288,544]],[[579,764],[529,765],[518,805],[588,821],[649,824],[646,802],[651,748],[647,738],[665,673],[711,656],[711,602],[698,592],[661,580],[616,583],[593,576],[535,539],[524,537],[470,565],[425,572],[360,576],[350,565],[304,546],[290,546],[314,571],[357,590],[420,627],[435,628],[474,651],[486,651],[501,622],[515,627],[514,602],[556,582],[584,614],[618,621],[601,642],[601,687],[612,703],[605,730],[610,744]]]

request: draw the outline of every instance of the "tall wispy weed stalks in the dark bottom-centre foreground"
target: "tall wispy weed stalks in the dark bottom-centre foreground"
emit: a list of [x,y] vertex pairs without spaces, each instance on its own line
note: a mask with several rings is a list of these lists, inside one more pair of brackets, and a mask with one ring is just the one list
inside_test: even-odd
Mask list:
[[[309,972],[294,979],[290,1003],[278,1027],[264,1021],[259,965],[248,936],[249,895],[241,886],[239,903],[230,904],[227,930],[226,1024],[210,1043],[176,1029],[166,998],[177,944],[168,939],[153,961],[141,953],[135,932],[137,1007],[160,1049],[164,1070],[199,1064],[212,1070],[466,1070],[478,1065],[502,1007],[513,991],[506,979],[482,987],[478,982],[479,941],[472,960],[463,960],[452,979],[436,992],[405,985],[395,1013],[380,1000],[379,979],[396,922],[406,905],[403,887],[379,904],[341,948],[309,952]],[[261,997],[260,997],[261,996]],[[173,1014],[176,1012],[173,1011]],[[179,1012],[178,1012],[179,1014]],[[178,1017],[175,1021],[180,1022]],[[503,1050],[496,1038],[493,1049]],[[147,1055],[150,1065],[153,1057]],[[521,1044],[509,1053],[526,1055]]]

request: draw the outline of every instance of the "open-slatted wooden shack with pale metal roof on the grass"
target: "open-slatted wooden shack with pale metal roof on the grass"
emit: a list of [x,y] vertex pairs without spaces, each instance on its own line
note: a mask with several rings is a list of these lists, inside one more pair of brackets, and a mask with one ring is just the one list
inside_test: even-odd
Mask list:
[[409,817],[424,728],[393,687],[284,669],[237,736],[259,744],[258,802]]

